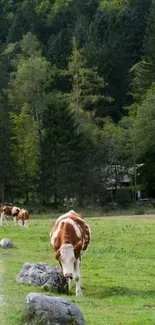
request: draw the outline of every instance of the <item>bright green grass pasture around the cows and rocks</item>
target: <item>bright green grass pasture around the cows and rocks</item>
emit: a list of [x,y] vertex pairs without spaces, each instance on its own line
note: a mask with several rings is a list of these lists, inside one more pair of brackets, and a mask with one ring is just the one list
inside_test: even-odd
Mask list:
[[[54,220],[50,214],[32,215],[29,228],[14,226],[11,220],[0,228],[0,239],[8,237],[16,245],[0,249],[5,292],[1,324],[25,325],[26,295],[45,293],[17,284],[16,276],[25,262],[58,265],[49,242]],[[87,222],[92,238],[82,259],[83,297],[75,297],[74,285],[70,295],[61,296],[80,308],[87,325],[155,324],[155,217],[87,218]]]

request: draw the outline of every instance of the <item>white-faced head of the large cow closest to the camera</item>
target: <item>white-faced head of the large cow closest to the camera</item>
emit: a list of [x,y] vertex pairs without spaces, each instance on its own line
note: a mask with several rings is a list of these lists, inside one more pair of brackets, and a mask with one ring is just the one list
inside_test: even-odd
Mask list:
[[59,261],[63,275],[65,278],[73,278],[74,263],[80,257],[82,249],[82,241],[80,240],[76,246],[72,244],[63,244],[56,253],[56,258]]

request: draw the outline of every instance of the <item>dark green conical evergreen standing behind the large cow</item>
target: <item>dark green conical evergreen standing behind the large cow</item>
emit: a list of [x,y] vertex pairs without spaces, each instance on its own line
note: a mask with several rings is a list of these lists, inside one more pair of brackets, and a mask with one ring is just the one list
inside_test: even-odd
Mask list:
[[66,101],[51,98],[43,114],[44,137],[41,145],[41,192],[55,205],[64,197],[80,193],[86,159],[84,135],[77,132],[74,115]]

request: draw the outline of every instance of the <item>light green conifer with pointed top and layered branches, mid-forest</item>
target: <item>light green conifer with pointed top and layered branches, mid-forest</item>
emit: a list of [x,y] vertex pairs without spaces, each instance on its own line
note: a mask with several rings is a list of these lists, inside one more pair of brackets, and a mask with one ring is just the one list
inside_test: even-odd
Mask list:
[[[77,48],[73,39],[73,51],[68,64],[68,73],[71,78],[71,91],[69,101],[76,114],[78,122],[87,124],[92,112],[93,116],[99,115],[99,110],[106,101],[110,101],[105,95],[105,82],[99,76],[95,68],[88,68],[85,57]],[[87,113],[86,113],[87,112]]]

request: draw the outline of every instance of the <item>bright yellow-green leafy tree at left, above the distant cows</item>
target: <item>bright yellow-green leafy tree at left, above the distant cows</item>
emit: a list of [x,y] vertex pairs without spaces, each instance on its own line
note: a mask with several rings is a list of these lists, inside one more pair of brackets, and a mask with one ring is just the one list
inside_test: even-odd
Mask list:
[[[39,177],[39,138],[34,118],[25,105],[20,114],[11,114],[13,121],[12,157],[16,168],[16,195],[23,194],[29,200],[29,192]],[[18,158],[17,158],[18,157]]]

